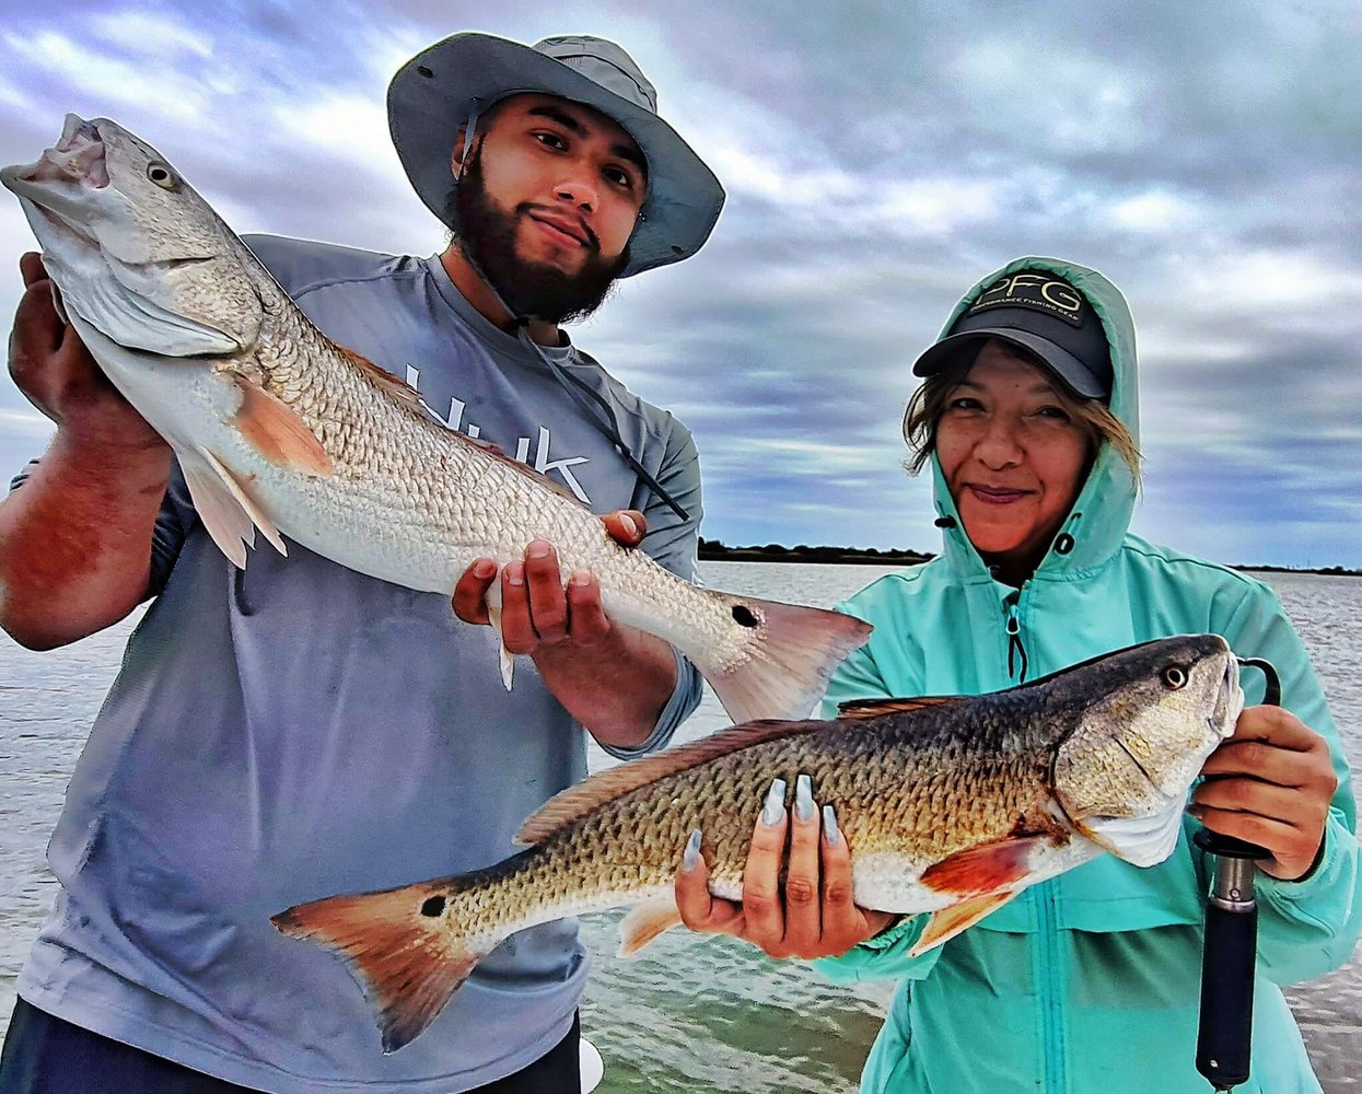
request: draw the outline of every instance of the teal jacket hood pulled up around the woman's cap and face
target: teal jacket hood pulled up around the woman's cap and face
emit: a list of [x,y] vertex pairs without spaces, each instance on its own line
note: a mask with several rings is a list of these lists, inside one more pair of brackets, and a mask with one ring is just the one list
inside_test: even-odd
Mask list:
[[[1107,345],[1111,349],[1111,413],[1140,441],[1139,384],[1136,380],[1135,320],[1121,292],[1102,274],[1086,266],[1061,259],[1024,256],[1013,259],[1000,270],[979,281],[960,297],[941,328],[944,338],[955,320],[998,278],[1019,270],[1047,270],[1058,274],[1081,292],[1102,320]],[[974,549],[956,511],[951,492],[941,474],[936,452],[932,454],[932,480],[936,508],[944,527],[943,556],[963,574],[987,576],[987,567]],[[1079,493],[1054,542],[1036,567],[1038,580],[1071,580],[1100,569],[1120,548],[1135,512],[1137,484],[1121,454],[1103,443],[1088,471],[1087,482]]]

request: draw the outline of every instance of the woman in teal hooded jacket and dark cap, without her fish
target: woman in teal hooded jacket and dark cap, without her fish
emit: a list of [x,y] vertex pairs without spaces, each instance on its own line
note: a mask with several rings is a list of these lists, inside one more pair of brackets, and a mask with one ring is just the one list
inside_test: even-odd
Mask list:
[[[1128,531],[1137,490],[1135,330],[1100,274],[1023,257],[979,282],[919,358],[906,439],[930,458],[944,549],[839,608],[874,624],[835,676],[847,699],[996,691],[1174,634],[1271,661],[1284,711],[1250,707],[1207,762],[1173,856],[1102,856],[1036,884],[944,945],[926,917],[850,905],[847,849],[808,781],[772,796],[744,905],[712,899],[692,839],[677,902],[697,931],[834,980],[902,978],[862,1078],[878,1094],[1205,1094],[1193,1060],[1208,827],[1268,847],[1258,873],[1252,1078],[1318,1091],[1279,985],[1347,960],[1362,928],[1357,813],[1337,729],[1301,639],[1261,582]],[[1109,413],[1110,411],[1110,413]],[[1263,683],[1245,670],[1250,703]],[[1199,819],[1197,819],[1199,817]],[[786,837],[789,832],[789,850]],[[780,869],[787,873],[782,888]],[[850,947],[850,950],[849,950]]]

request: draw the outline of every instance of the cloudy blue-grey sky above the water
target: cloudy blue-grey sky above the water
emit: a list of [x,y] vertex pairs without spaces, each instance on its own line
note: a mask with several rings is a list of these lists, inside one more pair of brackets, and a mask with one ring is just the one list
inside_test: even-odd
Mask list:
[[[614,37],[729,202],[699,256],[573,337],[691,425],[710,538],[934,550],[929,485],[900,466],[911,362],[977,278],[1042,253],[1102,270],[1135,312],[1139,531],[1362,567],[1355,0],[0,11],[0,163],[68,110],[108,116],[238,232],[421,255],[443,237],[388,142],[396,67],[455,30]],[[30,247],[0,195],[0,253]],[[0,275],[4,322],[18,296]],[[49,435],[0,380],[0,471]]]

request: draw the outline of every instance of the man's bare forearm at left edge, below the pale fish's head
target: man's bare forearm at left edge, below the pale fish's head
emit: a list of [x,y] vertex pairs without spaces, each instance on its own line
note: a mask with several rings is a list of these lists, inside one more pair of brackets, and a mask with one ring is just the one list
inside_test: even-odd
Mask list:
[[170,448],[89,447],[57,433],[0,503],[0,627],[52,648],[117,623],[143,598]]

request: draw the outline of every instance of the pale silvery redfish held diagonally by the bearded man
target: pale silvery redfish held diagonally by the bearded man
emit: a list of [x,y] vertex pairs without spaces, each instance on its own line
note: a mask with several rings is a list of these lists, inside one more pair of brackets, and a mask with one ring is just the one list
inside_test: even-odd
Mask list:
[[[256,529],[342,565],[451,594],[478,557],[543,538],[564,582],[680,648],[734,721],[797,718],[869,625],[699,589],[620,548],[565,489],[447,429],[406,384],[328,341],[155,149],[67,116],[5,168],[65,311],[101,368],[170,443],[203,526],[237,565]],[[493,586],[493,591],[498,591]],[[492,605],[496,610],[497,605]],[[511,685],[511,659],[503,650]]]

